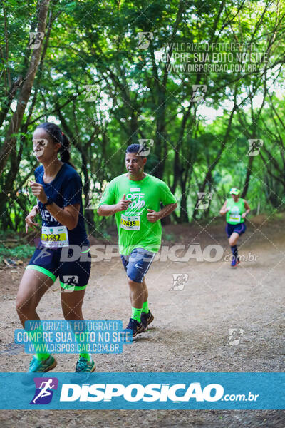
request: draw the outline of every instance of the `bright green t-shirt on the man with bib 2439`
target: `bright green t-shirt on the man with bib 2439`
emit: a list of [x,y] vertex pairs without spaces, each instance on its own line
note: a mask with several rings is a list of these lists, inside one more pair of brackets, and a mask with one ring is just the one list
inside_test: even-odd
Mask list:
[[125,211],[115,213],[119,235],[120,254],[129,255],[135,248],[157,253],[161,245],[162,228],[160,220],[147,220],[147,209],[160,210],[163,205],[176,203],[175,196],[164,181],[147,174],[142,180],[130,180],[126,174],[114,178],[105,188],[100,205],[113,205],[123,199],[132,203]]

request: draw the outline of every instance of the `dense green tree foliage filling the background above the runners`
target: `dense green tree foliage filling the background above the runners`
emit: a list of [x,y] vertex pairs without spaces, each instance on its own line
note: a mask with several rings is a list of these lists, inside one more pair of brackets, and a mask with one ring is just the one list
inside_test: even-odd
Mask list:
[[[0,111],[7,104],[10,81],[26,75],[32,53],[27,49],[28,33],[36,31],[37,4],[28,1],[19,6],[19,1],[6,0],[0,6],[5,9],[9,41],[6,58],[1,25]],[[104,180],[125,172],[128,144],[150,138],[154,146],[145,170],[175,192],[181,205],[179,221],[191,220],[193,214],[198,220],[217,215],[232,185],[241,189],[248,185],[246,198],[254,210],[257,206],[263,213],[284,210],[285,108],[284,97],[274,95],[284,88],[283,14],[284,4],[275,7],[271,1],[51,1],[48,46],[15,151],[0,176],[1,227],[24,230],[26,214],[35,203],[33,198],[28,202],[25,185],[37,166],[31,140],[42,121],[56,121],[70,138],[71,158],[85,185],[85,205],[88,192],[100,191]],[[139,49],[138,33],[145,31],[151,31],[153,39],[148,49]],[[170,41],[254,43],[255,51],[268,52],[270,61],[257,63],[254,73],[167,71],[155,53]],[[193,61],[193,52],[189,56]],[[171,64],[181,66],[181,57],[172,57]],[[191,102],[195,84],[207,85],[200,103]],[[87,85],[93,86],[93,101],[87,101]],[[0,146],[20,90],[4,118]],[[261,106],[256,101],[263,97]],[[234,103],[237,108],[229,126]],[[211,119],[217,111],[219,116]],[[251,138],[264,141],[252,163],[247,156]],[[212,202],[209,210],[195,213],[201,190],[213,193]],[[89,232],[94,235],[104,236],[112,222],[99,218],[95,210],[88,214]]]

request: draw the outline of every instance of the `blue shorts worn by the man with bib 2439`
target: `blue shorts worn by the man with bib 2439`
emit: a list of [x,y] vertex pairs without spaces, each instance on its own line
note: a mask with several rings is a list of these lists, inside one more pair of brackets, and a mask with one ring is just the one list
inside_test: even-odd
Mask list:
[[125,272],[133,282],[142,282],[147,270],[150,269],[155,253],[144,248],[135,248],[130,255],[120,255]]

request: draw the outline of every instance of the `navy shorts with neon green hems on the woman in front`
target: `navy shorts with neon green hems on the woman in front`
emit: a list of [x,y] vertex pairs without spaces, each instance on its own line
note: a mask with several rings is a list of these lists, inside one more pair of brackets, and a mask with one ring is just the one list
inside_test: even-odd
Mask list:
[[[46,248],[43,245],[36,248],[26,269],[37,270],[53,279],[59,277],[61,288],[71,292],[84,290],[88,284],[91,269],[89,245],[83,245],[75,251],[74,248]],[[71,260],[68,260],[70,258]]]

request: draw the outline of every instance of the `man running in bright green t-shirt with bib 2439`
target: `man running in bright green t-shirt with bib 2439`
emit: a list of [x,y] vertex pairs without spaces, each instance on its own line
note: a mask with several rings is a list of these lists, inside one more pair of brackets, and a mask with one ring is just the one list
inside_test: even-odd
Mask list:
[[[98,209],[103,216],[115,214],[119,251],[128,275],[132,316],[128,329],[133,337],[143,332],[154,317],[148,308],[145,275],[161,245],[160,219],[177,207],[167,184],[144,173],[147,158],[138,156],[139,144],[128,146],[125,166],[128,173],[108,184]],[[160,203],[164,208],[160,209]]]

